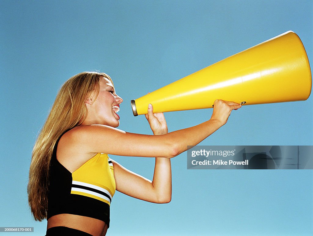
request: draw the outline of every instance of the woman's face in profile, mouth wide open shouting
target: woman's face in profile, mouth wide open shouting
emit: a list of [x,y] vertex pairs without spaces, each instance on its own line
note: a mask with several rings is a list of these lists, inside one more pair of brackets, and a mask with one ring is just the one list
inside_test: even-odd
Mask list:
[[116,95],[111,81],[105,77],[100,80],[99,95],[96,100],[86,101],[89,105],[88,116],[93,124],[118,127],[120,117],[116,114],[120,110],[123,101]]

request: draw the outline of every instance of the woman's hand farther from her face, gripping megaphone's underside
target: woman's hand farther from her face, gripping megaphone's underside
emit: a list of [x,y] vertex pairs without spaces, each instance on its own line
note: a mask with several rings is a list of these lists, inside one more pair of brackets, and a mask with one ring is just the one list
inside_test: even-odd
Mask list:
[[224,101],[217,99],[214,101],[213,114],[211,120],[217,120],[221,122],[221,125],[225,125],[232,110],[237,110],[241,105],[236,102]]

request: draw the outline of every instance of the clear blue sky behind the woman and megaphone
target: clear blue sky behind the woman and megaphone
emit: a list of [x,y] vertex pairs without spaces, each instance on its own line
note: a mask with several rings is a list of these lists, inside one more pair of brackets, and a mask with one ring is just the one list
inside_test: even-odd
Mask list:
[[[0,227],[34,227],[32,235],[44,235],[47,222],[28,208],[31,151],[69,77],[109,74],[124,99],[120,129],[152,134],[131,99],[288,30],[313,63],[312,1],[3,0],[0,27]],[[313,145],[312,100],[244,106],[201,145]],[[165,114],[169,131],[211,115]],[[153,158],[111,157],[152,178]],[[172,159],[172,176],[168,204],[116,192],[107,235],[313,233],[312,170],[187,170],[185,152]]]

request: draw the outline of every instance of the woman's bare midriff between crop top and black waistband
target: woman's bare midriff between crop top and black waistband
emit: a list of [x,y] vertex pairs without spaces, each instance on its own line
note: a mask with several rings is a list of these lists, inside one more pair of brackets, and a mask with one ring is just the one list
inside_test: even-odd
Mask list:
[[104,236],[108,230],[108,226],[104,221],[86,216],[59,214],[50,217],[47,221],[47,229],[56,226],[65,226],[84,231],[94,236]]

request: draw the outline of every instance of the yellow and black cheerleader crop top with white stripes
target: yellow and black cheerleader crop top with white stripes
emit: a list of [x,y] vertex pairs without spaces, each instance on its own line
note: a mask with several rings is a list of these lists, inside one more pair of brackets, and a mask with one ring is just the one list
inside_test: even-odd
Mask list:
[[104,221],[110,226],[110,203],[115,193],[113,164],[105,153],[97,153],[73,173],[56,158],[58,142],[50,162],[47,219],[74,214]]

